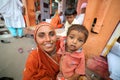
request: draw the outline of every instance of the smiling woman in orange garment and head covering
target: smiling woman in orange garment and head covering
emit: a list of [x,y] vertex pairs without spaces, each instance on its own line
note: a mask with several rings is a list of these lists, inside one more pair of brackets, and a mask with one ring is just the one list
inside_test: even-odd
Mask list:
[[41,22],[36,26],[34,39],[37,49],[28,56],[23,80],[56,80],[59,72],[59,49],[54,27],[50,23]]

